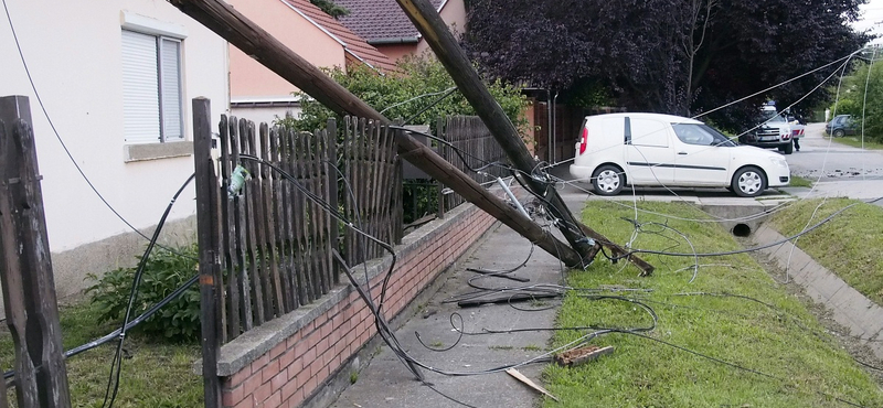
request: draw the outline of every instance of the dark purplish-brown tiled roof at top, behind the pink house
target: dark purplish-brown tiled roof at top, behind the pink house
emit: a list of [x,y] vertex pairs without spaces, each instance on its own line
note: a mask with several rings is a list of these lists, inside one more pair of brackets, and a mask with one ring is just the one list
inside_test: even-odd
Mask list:
[[[444,0],[429,0],[438,10]],[[395,0],[334,0],[350,11],[340,21],[363,39],[374,41],[417,40],[419,31]]]

